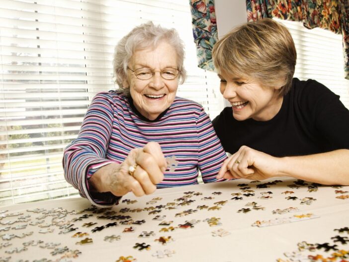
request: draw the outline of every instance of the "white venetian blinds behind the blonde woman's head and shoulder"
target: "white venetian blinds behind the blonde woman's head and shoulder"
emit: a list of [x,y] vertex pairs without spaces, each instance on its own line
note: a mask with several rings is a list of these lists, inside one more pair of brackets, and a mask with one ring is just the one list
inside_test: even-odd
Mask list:
[[297,49],[294,76],[314,79],[341,96],[349,109],[349,80],[344,78],[342,35],[321,28],[307,29],[301,22],[275,19],[291,32]]

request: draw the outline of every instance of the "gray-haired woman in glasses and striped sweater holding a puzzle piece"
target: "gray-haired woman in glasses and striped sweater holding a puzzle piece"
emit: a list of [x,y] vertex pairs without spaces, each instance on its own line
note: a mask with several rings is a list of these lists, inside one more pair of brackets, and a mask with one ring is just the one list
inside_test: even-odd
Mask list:
[[64,152],[65,177],[92,203],[118,203],[156,188],[204,182],[226,154],[203,108],[176,97],[183,83],[183,44],[174,29],[135,27],[115,48],[119,90],[97,94],[78,138]]

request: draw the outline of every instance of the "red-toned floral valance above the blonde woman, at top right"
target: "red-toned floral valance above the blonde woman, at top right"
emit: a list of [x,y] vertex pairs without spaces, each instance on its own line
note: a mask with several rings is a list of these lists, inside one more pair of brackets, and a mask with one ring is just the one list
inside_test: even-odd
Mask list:
[[320,27],[343,35],[344,70],[349,79],[348,0],[246,0],[248,21],[265,17],[302,21],[309,29]]

